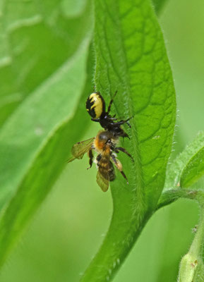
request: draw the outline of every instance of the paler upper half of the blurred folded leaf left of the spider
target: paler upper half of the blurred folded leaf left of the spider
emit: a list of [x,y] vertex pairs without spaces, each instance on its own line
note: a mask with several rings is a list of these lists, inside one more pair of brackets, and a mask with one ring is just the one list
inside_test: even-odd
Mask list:
[[30,94],[1,129],[0,207],[13,195],[52,131],[75,113],[85,83],[88,42],[85,39],[76,55]]

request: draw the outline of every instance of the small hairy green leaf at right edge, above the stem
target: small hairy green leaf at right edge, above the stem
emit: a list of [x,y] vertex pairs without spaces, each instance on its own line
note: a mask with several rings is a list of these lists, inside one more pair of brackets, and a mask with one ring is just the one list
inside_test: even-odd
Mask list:
[[184,151],[172,161],[172,164],[167,166],[164,191],[157,204],[157,209],[171,204],[180,197],[186,197],[186,195],[189,195],[189,197],[192,195],[193,197],[193,191],[188,190],[186,192],[180,188],[188,188],[203,176],[203,148],[204,134],[200,132],[195,140],[186,146]]

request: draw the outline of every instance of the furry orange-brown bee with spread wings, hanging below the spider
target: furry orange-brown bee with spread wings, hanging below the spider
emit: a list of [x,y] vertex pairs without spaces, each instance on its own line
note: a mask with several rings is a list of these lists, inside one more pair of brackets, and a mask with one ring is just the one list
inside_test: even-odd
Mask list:
[[92,137],[88,140],[78,142],[73,145],[71,154],[73,157],[68,159],[68,162],[74,159],[82,159],[85,153],[88,153],[89,164],[91,168],[93,163],[93,151],[97,152],[95,163],[97,164],[97,184],[102,191],[107,191],[109,188],[109,181],[113,181],[115,176],[114,166],[120,171],[121,175],[128,179],[123,171],[123,167],[119,159],[116,158],[116,153],[119,151],[124,152],[132,160],[131,154],[122,147],[117,147],[119,137],[114,135],[109,130],[101,130],[96,137]]

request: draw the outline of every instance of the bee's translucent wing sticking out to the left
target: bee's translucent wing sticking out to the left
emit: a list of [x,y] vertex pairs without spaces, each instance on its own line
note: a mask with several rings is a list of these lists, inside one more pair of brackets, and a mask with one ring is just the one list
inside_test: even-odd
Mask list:
[[92,146],[93,140],[95,137],[92,137],[88,140],[78,142],[71,148],[71,154],[73,157],[68,159],[68,163],[73,161],[74,159],[82,159],[83,155],[88,152]]

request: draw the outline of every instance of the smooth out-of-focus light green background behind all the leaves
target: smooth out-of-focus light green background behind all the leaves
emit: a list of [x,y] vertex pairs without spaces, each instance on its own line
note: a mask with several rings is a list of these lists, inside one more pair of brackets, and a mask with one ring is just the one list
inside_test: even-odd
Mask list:
[[[201,0],[169,0],[159,18],[178,104],[174,154],[203,130],[203,14]],[[94,136],[99,128],[92,124],[82,140]],[[87,158],[66,166],[4,265],[0,281],[79,280],[112,215],[110,191],[103,193],[95,182],[95,167],[89,171],[86,167]],[[161,209],[148,222],[114,281],[176,281],[179,261],[188,250],[197,220],[197,205],[190,201],[179,200]]]

